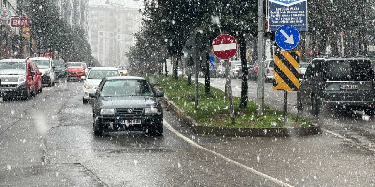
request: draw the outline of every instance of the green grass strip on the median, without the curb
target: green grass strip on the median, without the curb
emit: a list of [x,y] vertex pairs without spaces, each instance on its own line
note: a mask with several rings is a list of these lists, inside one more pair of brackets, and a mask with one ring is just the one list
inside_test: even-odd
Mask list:
[[[175,81],[171,76],[143,76],[160,91],[165,93],[187,115],[191,116],[199,125],[231,128],[280,128],[283,124],[282,111],[271,110],[264,105],[264,116],[257,118],[257,103],[248,102],[248,107],[240,109],[240,98],[233,97],[236,124],[232,125],[229,115],[228,99],[224,100],[224,92],[211,87],[211,93],[204,93],[204,84],[198,83],[198,109],[194,105],[194,82],[187,86],[184,81]],[[288,115],[287,127],[311,126],[311,121],[296,116]]]

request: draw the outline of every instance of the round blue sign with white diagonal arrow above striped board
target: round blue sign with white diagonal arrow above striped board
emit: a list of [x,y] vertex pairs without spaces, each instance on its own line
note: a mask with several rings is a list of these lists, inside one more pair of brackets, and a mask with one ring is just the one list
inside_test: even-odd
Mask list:
[[300,33],[292,25],[283,25],[275,32],[275,41],[281,49],[290,50],[300,42]]

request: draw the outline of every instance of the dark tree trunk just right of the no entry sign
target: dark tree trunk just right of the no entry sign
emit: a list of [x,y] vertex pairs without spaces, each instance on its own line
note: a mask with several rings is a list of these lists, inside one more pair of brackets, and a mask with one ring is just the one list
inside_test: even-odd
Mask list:
[[242,83],[241,83],[241,101],[240,108],[248,107],[248,62],[246,60],[246,41],[242,34],[239,34],[239,48],[242,70]]

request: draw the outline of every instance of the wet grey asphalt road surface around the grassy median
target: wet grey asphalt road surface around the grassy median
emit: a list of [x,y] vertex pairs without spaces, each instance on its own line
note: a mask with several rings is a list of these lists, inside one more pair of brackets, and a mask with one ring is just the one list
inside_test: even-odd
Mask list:
[[[314,121],[322,135],[224,138],[193,134],[164,109],[163,136],[98,137],[82,86],[57,83],[28,101],[0,102],[0,186],[375,186],[374,121],[361,114],[323,115]],[[256,83],[249,88],[252,100]],[[266,104],[281,107],[282,92],[265,89]],[[308,108],[303,115],[312,118]]]

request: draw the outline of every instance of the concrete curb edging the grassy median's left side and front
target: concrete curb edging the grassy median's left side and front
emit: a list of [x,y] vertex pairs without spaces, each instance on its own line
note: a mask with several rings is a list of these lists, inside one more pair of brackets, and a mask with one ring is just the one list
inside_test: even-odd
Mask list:
[[166,107],[190,126],[197,134],[224,136],[224,137],[305,137],[322,134],[319,125],[295,128],[226,128],[199,125],[192,117],[185,114],[177,105],[169,101],[167,96],[160,98]]

